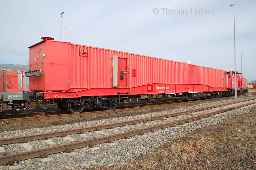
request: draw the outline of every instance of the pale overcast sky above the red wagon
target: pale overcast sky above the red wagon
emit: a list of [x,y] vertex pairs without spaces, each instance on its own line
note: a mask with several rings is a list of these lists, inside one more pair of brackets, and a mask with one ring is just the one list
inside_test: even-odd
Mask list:
[[[244,77],[255,80],[255,0],[2,0],[0,63],[28,64],[28,47],[41,41],[40,37],[50,36],[59,41],[59,13],[65,12],[62,41],[180,62],[190,59],[191,64],[234,70],[233,7],[230,6],[233,3],[237,71],[241,72],[239,53],[244,53]],[[208,13],[211,10],[211,14],[206,15],[206,10]]]

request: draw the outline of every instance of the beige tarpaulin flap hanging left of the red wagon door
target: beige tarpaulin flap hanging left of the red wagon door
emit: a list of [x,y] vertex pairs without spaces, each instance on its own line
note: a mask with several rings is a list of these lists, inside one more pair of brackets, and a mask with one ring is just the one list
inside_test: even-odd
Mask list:
[[111,55],[111,86],[118,87],[118,56]]

